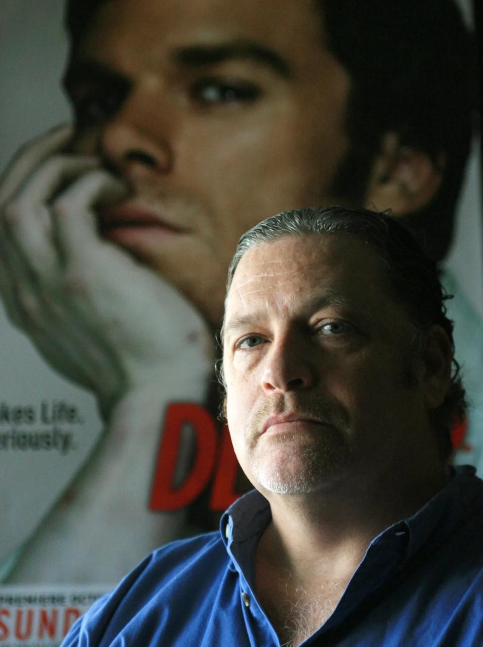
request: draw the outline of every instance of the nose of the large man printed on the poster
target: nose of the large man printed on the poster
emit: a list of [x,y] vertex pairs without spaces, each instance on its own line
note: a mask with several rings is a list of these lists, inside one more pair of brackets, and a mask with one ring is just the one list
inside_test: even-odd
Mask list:
[[100,153],[128,182],[169,173],[173,165],[167,114],[149,92],[134,89],[100,134]]

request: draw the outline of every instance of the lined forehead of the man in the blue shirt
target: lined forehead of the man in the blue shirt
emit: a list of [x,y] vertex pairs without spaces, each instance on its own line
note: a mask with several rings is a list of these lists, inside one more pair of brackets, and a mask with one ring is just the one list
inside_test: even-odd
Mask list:
[[267,317],[336,309],[358,323],[409,322],[375,248],[351,234],[284,236],[248,250],[225,302],[224,333]]

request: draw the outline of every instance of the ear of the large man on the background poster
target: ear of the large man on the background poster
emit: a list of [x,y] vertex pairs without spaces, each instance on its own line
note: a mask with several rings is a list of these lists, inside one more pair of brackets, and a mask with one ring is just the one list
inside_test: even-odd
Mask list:
[[379,211],[390,208],[396,216],[411,214],[435,197],[443,173],[443,159],[435,164],[424,151],[403,146],[396,133],[387,133],[373,166],[365,204]]

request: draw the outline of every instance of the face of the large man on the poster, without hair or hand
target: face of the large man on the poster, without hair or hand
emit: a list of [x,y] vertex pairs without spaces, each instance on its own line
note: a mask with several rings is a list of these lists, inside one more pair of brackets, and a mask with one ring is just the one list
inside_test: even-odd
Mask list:
[[238,238],[267,214],[337,203],[349,78],[312,0],[106,0],[66,87],[72,149],[130,197],[104,236],[219,322]]

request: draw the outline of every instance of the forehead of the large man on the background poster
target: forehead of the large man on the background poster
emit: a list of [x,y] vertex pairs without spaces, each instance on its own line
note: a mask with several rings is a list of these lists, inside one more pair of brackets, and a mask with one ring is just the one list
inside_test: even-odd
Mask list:
[[[142,10],[141,10],[142,7]],[[96,50],[103,50],[103,39],[111,43],[133,38],[137,33],[147,43],[158,43],[159,54],[163,47],[172,49],[172,58],[176,62],[185,62],[184,49],[189,49],[188,62],[191,64],[196,54],[203,54],[204,47],[216,48],[240,41],[252,39],[255,47],[234,49],[234,56],[240,58],[248,55],[254,61],[260,60],[256,45],[269,52],[276,52],[275,65],[280,61],[300,58],[313,65],[311,58],[317,50],[314,45],[322,44],[324,32],[322,15],[313,0],[270,0],[260,3],[259,0],[238,0],[236,3],[227,0],[103,0],[94,5],[83,38],[83,49],[90,58],[96,58]],[[94,39],[92,39],[94,36]],[[297,49],[289,45],[299,43]],[[303,46],[303,54],[296,56]],[[198,52],[191,48],[198,48]],[[178,56],[181,50],[181,57]],[[322,49],[322,48],[321,48]],[[307,50],[307,51],[305,51]],[[313,52],[313,54],[310,54]],[[163,52],[163,54],[170,52]],[[211,53],[210,53],[211,54]],[[254,54],[254,56],[252,56]],[[285,64],[285,60],[283,64]],[[215,61],[216,62],[216,61]],[[267,59],[268,63],[271,63]]]

